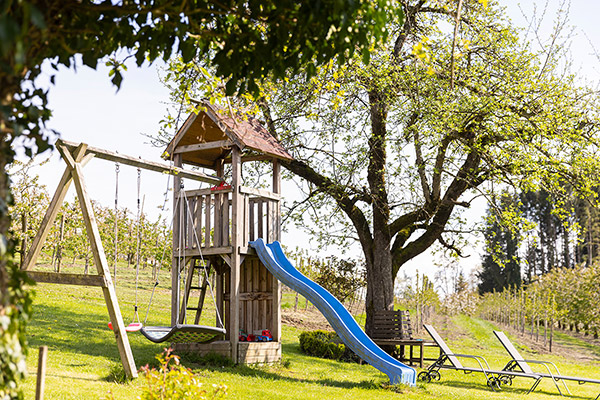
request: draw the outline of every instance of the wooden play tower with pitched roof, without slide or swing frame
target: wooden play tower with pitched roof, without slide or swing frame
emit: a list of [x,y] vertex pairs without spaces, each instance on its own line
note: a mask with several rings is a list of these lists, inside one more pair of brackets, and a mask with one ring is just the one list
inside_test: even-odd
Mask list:
[[[208,103],[201,109],[187,118],[163,157],[173,160],[175,167],[213,170],[224,184],[188,189],[184,179],[175,175],[171,324],[198,324],[208,286],[205,271],[213,271],[216,321],[227,333],[224,340],[174,347],[221,354],[236,363],[278,361],[280,284],[248,242],[280,239],[279,160],[292,157],[256,119],[232,116]],[[271,190],[242,185],[246,161],[272,164]],[[239,340],[241,331],[251,334],[264,329],[271,331],[272,342]]]

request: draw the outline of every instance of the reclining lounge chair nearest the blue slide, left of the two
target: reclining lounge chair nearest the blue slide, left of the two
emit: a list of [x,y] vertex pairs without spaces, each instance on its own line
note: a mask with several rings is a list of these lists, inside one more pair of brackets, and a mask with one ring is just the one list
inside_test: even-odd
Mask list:
[[[463,371],[465,374],[470,374],[472,372],[480,372],[485,376],[487,385],[493,391],[497,391],[500,390],[501,384],[512,383],[512,378],[518,376],[523,378],[535,379],[533,386],[527,392],[530,393],[533,389],[537,387],[539,381],[543,378],[541,374],[537,373],[526,373],[523,371],[519,372],[510,370],[493,370],[490,368],[486,359],[481,356],[453,353],[444,341],[444,339],[442,339],[442,337],[439,335],[439,333],[437,333],[437,331],[432,325],[423,326],[427,330],[427,333],[429,333],[431,338],[434,340],[434,342],[436,342],[436,344],[440,347],[441,355],[436,361],[434,361],[433,364],[429,366],[429,368],[427,368],[427,370],[421,371],[419,373],[419,375],[417,376],[417,379],[419,381],[431,382],[432,379],[440,380],[440,369],[453,369],[456,371]],[[479,365],[479,368],[465,367],[461,364],[459,358],[468,358],[475,360]]]

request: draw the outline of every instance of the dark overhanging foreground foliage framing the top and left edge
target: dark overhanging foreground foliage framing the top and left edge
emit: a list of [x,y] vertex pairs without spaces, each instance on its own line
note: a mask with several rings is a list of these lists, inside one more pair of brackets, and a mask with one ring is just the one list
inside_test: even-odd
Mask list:
[[[173,52],[189,60],[208,54],[226,89],[256,91],[263,76],[314,73],[316,60],[368,58],[371,36],[386,37],[387,2],[324,0],[20,0],[0,2],[0,397],[18,396],[15,378],[24,370],[21,348],[26,316],[22,276],[11,264],[7,166],[14,145],[28,154],[48,149],[47,90],[36,86],[42,64],[48,71],[74,66],[75,56],[95,68],[111,67],[122,80],[123,57],[137,64]],[[110,57],[110,58],[107,58]],[[51,76],[54,81],[54,76]]]

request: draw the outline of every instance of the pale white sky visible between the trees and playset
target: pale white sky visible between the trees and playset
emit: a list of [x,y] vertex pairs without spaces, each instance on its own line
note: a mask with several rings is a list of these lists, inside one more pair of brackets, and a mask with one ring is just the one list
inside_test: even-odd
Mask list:
[[[527,28],[535,26],[532,19],[534,13],[544,15],[540,26],[542,37],[547,36],[555,21],[557,11],[569,6],[565,1],[527,1],[507,0],[502,2],[513,25]],[[598,82],[600,61],[597,49],[600,49],[600,2],[573,0],[570,3],[569,25],[573,27],[571,36],[571,56],[573,70],[590,82]],[[532,24],[532,21],[534,22]],[[529,31],[531,32],[531,30]],[[535,37],[529,35],[529,39]],[[165,115],[168,91],[162,85],[159,74],[164,64],[156,62],[141,68],[128,65],[119,91],[110,83],[108,69],[102,65],[97,70],[79,67],[76,70],[61,68],[56,76],[56,83],[51,87],[49,107],[53,116],[48,127],[60,132],[61,138],[73,142],[85,142],[90,146],[101,147],[119,153],[141,157],[147,160],[160,161],[162,149],[150,145],[144,134],[158,132],[161,119]],[[46,159],[48,153],[38,159]],[[51,161],[33,171],[47,185],[50,195],[64,171],[65,165],[58,152],[51,156]],[[115,164],[94,159],[84,169],[84,177],[92,199],[104,206],[113,206],[115,199]],[[206,184],[204,184],[206,186]],[[186,189],[197,188],[195,182],[187,182]],[[144,211],[150,216],[158,216],[158,207],[163,204],[167,188],[165,175],[151,171],[141,173],[141,196],[144,197]],[[294,198],[294,185],[284,184],[283,194]],[[74,197],[71,188],[68,199]],[[119,206],[130,210],[136,208],[137,171],[133,167],[123,166],[119,173]],[[169,197],[170,200],[170,197]],[[475,207],[469,214],[472,220],[481,218],[484,204]],[[470,255],[461,260],[460,266],[465,271],[473,270],[480,264],[481,238],[470,238],[472,244],[465,250]],[[316,244],[307,234],[289,227],[283,232],[282,243],[294,248],[316,249]],[[336,249],[330,250],[337,255]],[[327,251],[324,252],[328,254]],[[323,252],[321,252],[323,255]],[[360,255],[359,246],[350,252],[351,256]],[[416,271],[428,274],[433,278],[436,267],[436,256],[425,253],[406,264],[402,274],[414,277]]]

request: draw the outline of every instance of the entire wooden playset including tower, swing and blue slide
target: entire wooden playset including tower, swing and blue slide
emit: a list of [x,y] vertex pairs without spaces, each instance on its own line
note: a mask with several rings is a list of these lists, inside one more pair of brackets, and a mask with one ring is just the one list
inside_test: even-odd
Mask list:
[[[341,303],[302,276],[283,254],[278,242],[281,236],[280,160],[292,157],[256,119],[220,113],[204,103],[200,112],[187,118],[163,153],[163,158],[172,164],[124,156],[88,147],[85,143],[59,140],[56,147],[67,168],[22,268],[37,282],[102,288],[121,362],[129,377],[137,376],[135,361],[82,171],[93,157],[174,177],[171,326],[143,327],[141,332],[149,340],[169,341],[175,351],[200,355],[217,353],[235,363],[279,361],[281,280],[313,302],[344,342],[386,373],[392,383],[415,384],[413,368],[381,350]],[[271,190],[242,185],[242,168],[248,161],[271,163]],[[226,168],[228,164],[230,168]],[[184,165],[213,170],[216,176],[192,171]],[[187,189],[184,180],[213,186]],[[97,275],[32,271],[72,182]],[[265,247],[263,240],[272,245]],[[210,283],[213,280],[214,293]],[[211,295],[214,294],[215,327],[198,325],[209,289]],[[195,311],[195,315],[190,311]],[[192,317],[193,324],[188,322]],[[247,341],[248,336],[243,332],[261,332],[258,336],[262,340]]]

